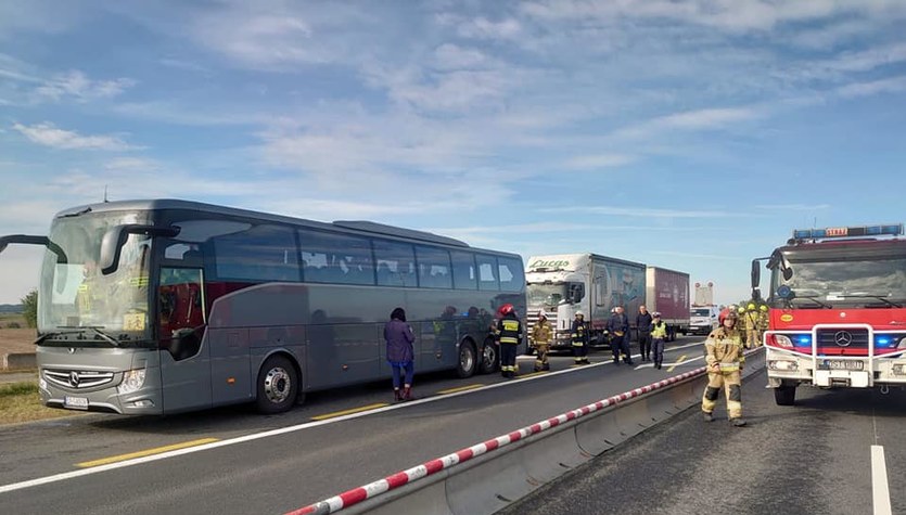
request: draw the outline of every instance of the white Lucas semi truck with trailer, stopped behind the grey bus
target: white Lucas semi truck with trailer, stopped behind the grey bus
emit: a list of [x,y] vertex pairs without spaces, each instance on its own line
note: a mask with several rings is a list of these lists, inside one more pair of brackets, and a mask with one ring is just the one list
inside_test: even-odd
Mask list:
[[[648,288],[647,276],[653,282]],[[578,310],[591,327],[591,345],[607,344],[605,327],[615,306],[623,306],[634,330],[641,305],[669,312],[673,334],[689,324],[689,275],[684,272],[590,253],[556,254],[528,258],[525,280],[529,334],[544,311],[554,327],[554,349],[572,347],[570,326]],[[667,310],[666,302],[681,309]]]

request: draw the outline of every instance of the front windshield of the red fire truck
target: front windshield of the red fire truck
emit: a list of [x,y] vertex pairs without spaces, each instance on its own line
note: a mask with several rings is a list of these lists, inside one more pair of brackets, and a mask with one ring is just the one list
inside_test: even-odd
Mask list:
[[898,307],[906,302],[906,257],[791,261],[793,276],[771,274],[771,291],[792,288],[796,307]]

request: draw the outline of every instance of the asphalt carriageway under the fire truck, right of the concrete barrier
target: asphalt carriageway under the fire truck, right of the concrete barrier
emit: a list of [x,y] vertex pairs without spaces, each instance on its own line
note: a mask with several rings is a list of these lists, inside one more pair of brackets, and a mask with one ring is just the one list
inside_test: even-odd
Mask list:
[[800,388],[796,405],[778,407],[765,383],[762,371],[743,385],[748,427],[690,409],[498,514],[883,513],[872,446],[883,448],[890,513],[906,513],[906,391]]

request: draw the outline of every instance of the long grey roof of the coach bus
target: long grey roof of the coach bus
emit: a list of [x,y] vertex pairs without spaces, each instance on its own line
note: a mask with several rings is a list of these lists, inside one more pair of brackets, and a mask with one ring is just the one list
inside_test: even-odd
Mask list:
[[[150,199],[133,199],[133,201],[116,201],[103,202],[97,204],[86,204],[81,206],[72,207],[58,213],[54,218],[65,218],[82,215],[86,213],[104,213],[104,211],[144,211],[144,210],[163,210],[163,209],[183,209],[194,210],[199,213],[210,213],[216,215],[229,215],[237,217],[253,218],[256,220],[266,220],[281,223],[289,223],[293,226],[314,227],[324,230],[346,233],[359,233],[369,235],[383,235],[405,240],[414,240],[420,242],[429,242],[451,247],[464,247],[472,250],[487,252],[498,255],[509,255],[520,257],[516,254],[505,253],[500,250],[490,250],[483,248],[471,247],[468,243],[449,236],[434,234],[426,231],[419,231],[414,229],[405,229],[394,226],[386,226],[383,223],[365,221],[365,220],[337,220],[332,223],[321,222],[317,220],[308,220],[305,218],[294,218],[283,215],[273,215],[270,213],[253,211],[250,209],[241,209],[235,207],[219,206],[216,204],[206,204],[194,201],[183,201],[178,198],[150,198]],[[521,257],[520,257],[521,259]]]

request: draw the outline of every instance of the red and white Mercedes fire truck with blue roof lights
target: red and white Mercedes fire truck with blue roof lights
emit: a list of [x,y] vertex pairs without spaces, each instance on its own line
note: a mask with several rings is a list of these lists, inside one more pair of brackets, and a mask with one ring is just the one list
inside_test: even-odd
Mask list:
[[906,385],[906,237],[903,224],[793,231],[786,245],[752,261],[770,270],[764,334],[768,386],[791,405],[796,386]]

